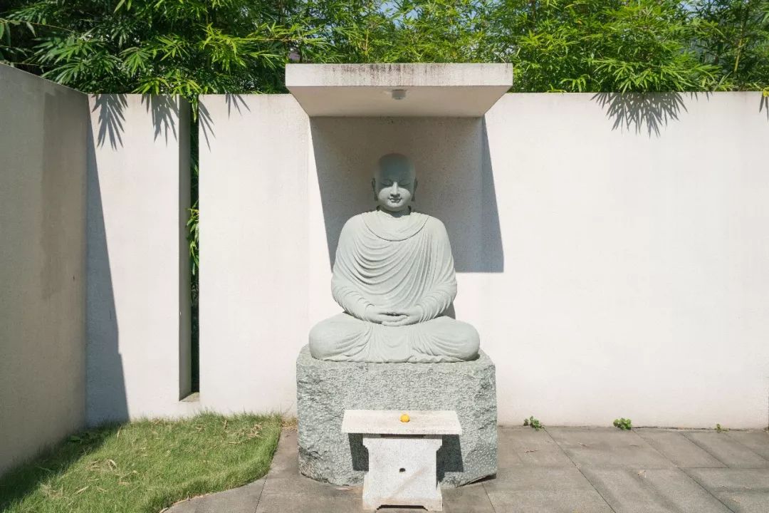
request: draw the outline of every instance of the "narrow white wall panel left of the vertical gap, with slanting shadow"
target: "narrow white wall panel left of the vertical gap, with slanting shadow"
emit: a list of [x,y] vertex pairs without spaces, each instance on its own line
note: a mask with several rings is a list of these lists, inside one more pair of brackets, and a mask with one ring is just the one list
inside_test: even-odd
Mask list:
[[88,137],[88,424],[183,415],[188,105],[96,95]]

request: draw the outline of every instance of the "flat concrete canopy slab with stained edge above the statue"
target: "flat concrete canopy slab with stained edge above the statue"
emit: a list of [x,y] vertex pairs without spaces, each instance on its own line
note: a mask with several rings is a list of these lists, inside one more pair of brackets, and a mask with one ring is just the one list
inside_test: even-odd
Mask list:
[[310,116],[481,117],[512,85],[509,64],[286,65],[286,87]]

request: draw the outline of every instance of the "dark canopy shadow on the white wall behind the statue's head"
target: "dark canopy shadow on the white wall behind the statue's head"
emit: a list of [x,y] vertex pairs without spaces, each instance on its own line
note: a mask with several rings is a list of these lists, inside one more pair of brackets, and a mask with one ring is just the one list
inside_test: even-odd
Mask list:
[[494,171],[482,118],[311,118],[312,151],[334,265],[345,222],[375,207],[378,158],[408,155],[417,169],[414,207],[446,225],[458,272],[502,272]]

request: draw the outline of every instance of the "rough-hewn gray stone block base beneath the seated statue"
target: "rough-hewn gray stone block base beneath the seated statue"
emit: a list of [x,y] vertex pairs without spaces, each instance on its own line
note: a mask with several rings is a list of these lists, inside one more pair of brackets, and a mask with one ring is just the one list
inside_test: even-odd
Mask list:
[[345,409],[454,410],[462,435],[444,436],[438,480],[466,485],[497,472],[494,363],[353,363],[316,360],[305,346],[296,362],[299,471],[335,485],[359,485],[368,470],[361,435],[341,432]]

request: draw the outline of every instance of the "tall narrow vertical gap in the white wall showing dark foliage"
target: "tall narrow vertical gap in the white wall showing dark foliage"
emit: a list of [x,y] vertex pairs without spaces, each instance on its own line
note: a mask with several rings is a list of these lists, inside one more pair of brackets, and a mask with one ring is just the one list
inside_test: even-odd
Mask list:
[[200,330],[198,323],[198,106],[195,105],[190,124],[190,222],[188,223],[190,240],[190,301],[191,301],[191,394],[200,391]]

